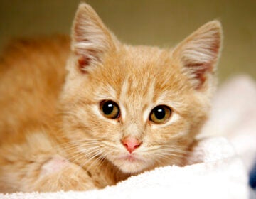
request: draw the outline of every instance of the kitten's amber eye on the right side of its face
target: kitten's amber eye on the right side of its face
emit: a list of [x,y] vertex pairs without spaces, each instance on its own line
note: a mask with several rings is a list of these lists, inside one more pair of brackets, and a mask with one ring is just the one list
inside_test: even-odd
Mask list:
[[156,123],[162,124],[171,117],[171,109],[165,105],[154,107],[149,115],[149,120]]

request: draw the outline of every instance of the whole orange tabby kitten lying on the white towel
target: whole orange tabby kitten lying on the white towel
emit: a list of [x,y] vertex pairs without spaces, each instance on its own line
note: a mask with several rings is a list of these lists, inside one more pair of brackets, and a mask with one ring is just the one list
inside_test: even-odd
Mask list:
[[207,119],[220,22],[173,50],[131,46],[80,4],[72,31],[71,41],[18,41],[2,55],[1,192],[104,188],[182,166]]

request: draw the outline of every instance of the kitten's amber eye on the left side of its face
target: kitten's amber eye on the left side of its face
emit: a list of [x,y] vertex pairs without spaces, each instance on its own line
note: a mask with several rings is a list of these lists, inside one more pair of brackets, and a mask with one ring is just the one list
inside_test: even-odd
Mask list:
[[111,100],[100,102],[100,110],[102,114],[109,119],[117,119],[120,115],[117,103]]

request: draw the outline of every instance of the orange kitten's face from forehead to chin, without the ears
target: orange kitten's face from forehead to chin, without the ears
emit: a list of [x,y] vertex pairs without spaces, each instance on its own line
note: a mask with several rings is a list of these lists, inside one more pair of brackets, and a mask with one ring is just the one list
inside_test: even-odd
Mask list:
[[[85,157],[90,151],[125,172],[181,163],[208,109],[171,53],[158,48],[124,46],[70,84],[79,85],[67,92],[70,142],[80,143]],[[165,113],[157,115],[155,107]],[[122,143],[126,138],[141,144],[130,153]]]

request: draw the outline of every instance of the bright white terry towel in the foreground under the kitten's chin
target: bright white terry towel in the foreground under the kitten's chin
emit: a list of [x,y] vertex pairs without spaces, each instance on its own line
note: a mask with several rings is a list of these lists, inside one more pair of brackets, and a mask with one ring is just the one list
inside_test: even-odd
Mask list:
[[0,198],[249,198],[245,166],[227,139],[201,139],[188,163],[155,168],[102,190],[12,193]]

